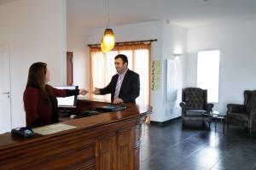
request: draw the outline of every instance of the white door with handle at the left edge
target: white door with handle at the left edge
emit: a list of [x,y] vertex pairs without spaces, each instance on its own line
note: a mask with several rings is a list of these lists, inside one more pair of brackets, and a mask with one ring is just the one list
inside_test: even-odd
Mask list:
[[0,44],[0,133],[11,130],[9,46]]

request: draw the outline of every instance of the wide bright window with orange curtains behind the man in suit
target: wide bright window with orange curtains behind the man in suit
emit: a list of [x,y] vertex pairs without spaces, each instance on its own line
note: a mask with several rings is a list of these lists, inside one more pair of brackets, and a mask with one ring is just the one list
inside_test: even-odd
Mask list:
[[[115,47],[108,53],[102,53],[100,48],[90,48],[90,92],[93,88],[104,88],[116,74],[114,57],[117,54],[125,54],[128,58],[128,68],[137,72],[140,76],[140,95],[136,99],[137,104],[149,104],[149,61],[150,44],[125,45]],[[94,98],[109,99],[108,95],[94,95]]]

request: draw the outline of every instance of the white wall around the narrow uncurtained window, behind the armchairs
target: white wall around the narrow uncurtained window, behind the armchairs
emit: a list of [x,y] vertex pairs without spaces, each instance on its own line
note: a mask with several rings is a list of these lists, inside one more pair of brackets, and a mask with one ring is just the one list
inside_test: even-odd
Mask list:
[[187,84],[196,86],[199,50],[219,49],[219,98],[213,110],[226,111],[228,103],[243,103],[243,91],[256,89],[256,21],[228,26],[190,29],[188,34]]

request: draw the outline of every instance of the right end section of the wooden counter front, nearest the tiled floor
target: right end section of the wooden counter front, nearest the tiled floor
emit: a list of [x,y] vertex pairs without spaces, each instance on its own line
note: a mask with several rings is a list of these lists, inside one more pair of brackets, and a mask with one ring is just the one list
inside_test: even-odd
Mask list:
[[[119,130],[99,139],[96,145],[96,162],[99,162],[96,169],[139,170],[141,148],[137,143],[140,141],[140,126]],[[135,135],[137,133],[139,135]]]

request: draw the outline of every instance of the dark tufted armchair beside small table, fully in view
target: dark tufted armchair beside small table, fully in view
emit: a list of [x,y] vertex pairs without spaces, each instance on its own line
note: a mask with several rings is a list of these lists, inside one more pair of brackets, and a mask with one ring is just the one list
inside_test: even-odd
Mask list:
[[212,122],[212,116],[203,113],[212,111],[213,104],[207,103],[207,90],[201,88],[183,88],[182,92],[182,119],[183,125],[187,121],[200,121],[202,125]]

